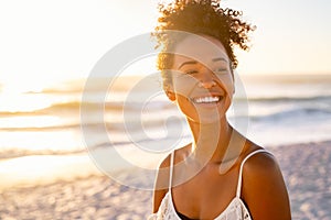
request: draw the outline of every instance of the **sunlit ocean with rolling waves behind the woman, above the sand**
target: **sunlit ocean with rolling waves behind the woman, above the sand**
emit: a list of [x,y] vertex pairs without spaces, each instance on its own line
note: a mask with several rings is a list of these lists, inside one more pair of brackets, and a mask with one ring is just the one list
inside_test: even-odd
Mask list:
[[[115,173],[128,164],[157,166],[190,142],[159,79],[124,77],[106,91],[103,79],[88,90],[85,81],[10,95],[0,85],[0,178],[8,179],[0,187],[102,175],[104,161]],[[236,85],[228,119],[257,144],[330,140],[331,75],[241,76]]]

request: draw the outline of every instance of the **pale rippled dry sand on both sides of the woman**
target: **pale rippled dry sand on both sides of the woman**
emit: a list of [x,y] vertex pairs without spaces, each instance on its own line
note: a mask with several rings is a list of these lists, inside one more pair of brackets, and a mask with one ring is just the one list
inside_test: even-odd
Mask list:
[[[282,169],[292,219],[331,219],[331,141],[267,148]],[[12,187],[0,195],[0,219],[146,219],[151,196],[106,176]]]

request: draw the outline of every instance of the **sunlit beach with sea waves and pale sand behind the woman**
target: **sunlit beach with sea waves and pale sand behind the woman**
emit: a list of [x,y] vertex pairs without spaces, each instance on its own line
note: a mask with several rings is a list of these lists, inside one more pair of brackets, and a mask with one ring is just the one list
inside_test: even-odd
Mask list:
[[[229,123],[279,161],[292,219],[330,219],[331,77],[242,79]],[[192,141],[185,119],[157,78],[122,78],[107,91],[105,79],[85,92],[84,82],[0,92],[1,220],[151,212],[156,167]]]

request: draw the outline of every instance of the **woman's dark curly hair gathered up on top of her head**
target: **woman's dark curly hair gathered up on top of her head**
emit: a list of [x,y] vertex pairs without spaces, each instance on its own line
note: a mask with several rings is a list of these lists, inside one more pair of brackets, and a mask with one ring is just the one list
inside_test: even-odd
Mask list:
[[248,33],[255,30],[255,26],[241,20],[242,12],[222,9],[220,0],[174,0],[168,4],[159,3],[159,12],[152,36],[158,42],[156,47],[162,46],[157,67],[161,70],[163,88],[171,84],[168,69],[171,69],[173,61],[173,54],[167,52],[179,42],[171,40],[167,31],[183,31],[217,38],[225,47],[232,68],[236,68],[238,62],[233,52],[234,45],[248,50]]

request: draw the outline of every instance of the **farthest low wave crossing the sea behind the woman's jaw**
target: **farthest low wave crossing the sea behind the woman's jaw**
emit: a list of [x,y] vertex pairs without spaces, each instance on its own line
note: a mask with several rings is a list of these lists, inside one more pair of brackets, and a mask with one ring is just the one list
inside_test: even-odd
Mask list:
[[[248,103],[279,103],[279,102],[320,102],[320,103],[331,103],[331,95],[319,95],[319,96],[305,96],[297,95],[291,96],[254,96],[254,97],[234,97],[235,102],[247,102]],[[81,101],[81,100],[70,100],[53,102],[50,106],[41,109],[33,110],[2,110],[0,111],[0,117],[17,117],[17,116],[39,116],[39,114],[70,114],[79,113],[79,110],[84,108],[84,111],[137,111],[137,110],[148,110],[148,111],[159,111],[164,109],[174,109],[175,105],[168,100],[120,100],[120,101]]]

